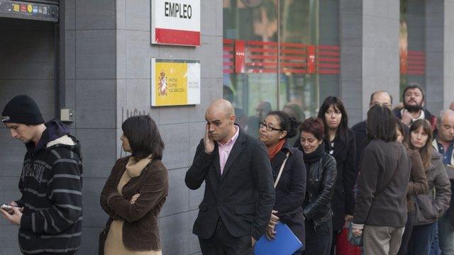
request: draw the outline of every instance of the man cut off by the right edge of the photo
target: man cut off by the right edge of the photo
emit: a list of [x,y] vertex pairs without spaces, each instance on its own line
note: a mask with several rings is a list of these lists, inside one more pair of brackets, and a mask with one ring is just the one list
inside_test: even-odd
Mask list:
[[[437,118],[437,130],[432,145],[441,154],[443,164],[451,185],[454,189],[454,111],[441,111]],[[454,254],[454,198],[450,198],[450,207],[438,219],[438,244],[441,254]]]

